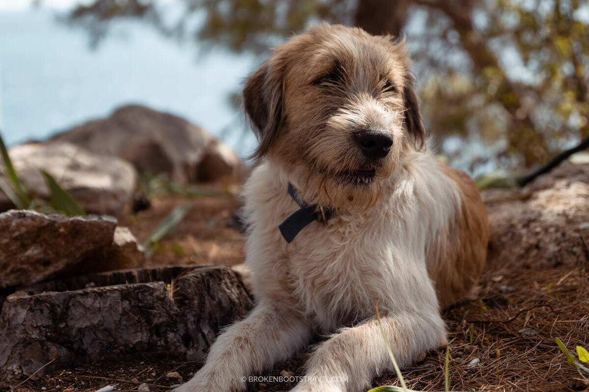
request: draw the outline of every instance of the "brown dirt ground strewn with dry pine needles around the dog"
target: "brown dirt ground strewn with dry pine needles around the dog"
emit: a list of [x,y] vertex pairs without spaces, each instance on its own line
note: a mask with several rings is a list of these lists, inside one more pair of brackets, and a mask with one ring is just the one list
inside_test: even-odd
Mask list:
[[[151,257],[153,264],[216,263],[243,261],[244,236],[227,227],[239,202],[230,195],[189,198],[159,197],[151,209],[131,216],[128,225],[139,240],[148,237],[173,207],[188,201],[196,206]],[[448,374],[455,391],[587,391],[574,366],[567,364],[555,338],[574,351],[589,349],[589,248],[585,260],[570,266],[530,268],[489,263],[477,296],[461,301],[444,312],[449,331]],[[409,388],[444,390],[445,347],[403,370]],[[259,376],[303,376],[309,350]],[[103,361],[57,371],[39,380],[12,383],[15,391],[96,391],[114,386],[118,391],[137,391],[145,383],[151,391],[163,392],[186,381],[197,363],[177,358],[137,356],[121,361]],[[181,378],[168,375],[177,372]],[[290,373],[284,373],[290,372]],[[18,384],[18,385],[16,385]],[[399,385],[393,373],[373,386]],[[250,392],[278,392],[290,383],[257,382]]]

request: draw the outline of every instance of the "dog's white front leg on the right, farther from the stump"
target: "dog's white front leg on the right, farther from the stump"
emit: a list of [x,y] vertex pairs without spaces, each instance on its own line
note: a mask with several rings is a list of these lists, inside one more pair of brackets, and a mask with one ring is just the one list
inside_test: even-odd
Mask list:
[[[382,317],[382,324],[399,366],[446,342],[444,321],[437,311],[399,312]],[[376,374],[391,368],[378,321],[370,320],[321,343],[307,364],[306,377],[292,392],[366,391]]]

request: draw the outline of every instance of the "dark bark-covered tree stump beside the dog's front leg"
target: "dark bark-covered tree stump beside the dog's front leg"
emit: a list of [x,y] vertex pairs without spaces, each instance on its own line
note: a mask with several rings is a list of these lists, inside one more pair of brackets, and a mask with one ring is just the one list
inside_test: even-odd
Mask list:
[[29,376],[52,359],[34,377],[137,353],[201,361],[220,329],[251,307],[229,267],[127,270],[36,284],[2,307],[0,380]]

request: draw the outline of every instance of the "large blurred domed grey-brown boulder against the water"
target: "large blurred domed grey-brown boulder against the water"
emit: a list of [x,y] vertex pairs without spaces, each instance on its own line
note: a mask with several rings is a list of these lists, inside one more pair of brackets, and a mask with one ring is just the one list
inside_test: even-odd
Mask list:
[[109,118],[77,126],[51,140],[118,156],[140,172],[163,173],[184,184],[243,172],[237,155],[202,128],[143,106],[124,106]]

